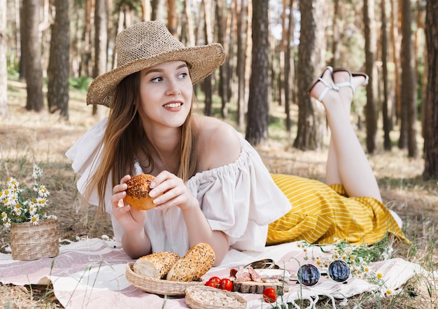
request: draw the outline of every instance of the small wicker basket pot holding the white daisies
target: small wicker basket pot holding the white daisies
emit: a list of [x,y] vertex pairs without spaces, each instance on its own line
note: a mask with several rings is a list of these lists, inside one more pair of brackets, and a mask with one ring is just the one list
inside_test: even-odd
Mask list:
[[59,253],[58,220],[45,219],[39,224],[24,222],[10,226],[12,258],[31,261]]

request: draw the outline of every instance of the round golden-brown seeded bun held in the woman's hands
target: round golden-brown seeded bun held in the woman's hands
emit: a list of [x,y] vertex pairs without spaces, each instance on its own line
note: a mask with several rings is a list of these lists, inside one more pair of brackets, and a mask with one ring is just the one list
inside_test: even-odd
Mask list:
[[150,210],[155,207],[154,198],[149,196],[150,183],[155,179],[150,174],[138,174],[131,177],[126,184],[126,201],[132,207],[138,210]]

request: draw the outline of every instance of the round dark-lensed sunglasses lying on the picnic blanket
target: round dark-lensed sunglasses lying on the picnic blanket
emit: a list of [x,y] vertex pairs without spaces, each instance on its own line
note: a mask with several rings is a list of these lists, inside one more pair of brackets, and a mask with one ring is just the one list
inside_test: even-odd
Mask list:
[[335,260],[330,263],[327,273],[321,273],[318,267],[312,264],[302,265],[297,273],[298,282],[306,287],[313,287],[320,280],[321,275],[329,275],[335,282],[346,283],[350,277],[350,267],[341,260]]

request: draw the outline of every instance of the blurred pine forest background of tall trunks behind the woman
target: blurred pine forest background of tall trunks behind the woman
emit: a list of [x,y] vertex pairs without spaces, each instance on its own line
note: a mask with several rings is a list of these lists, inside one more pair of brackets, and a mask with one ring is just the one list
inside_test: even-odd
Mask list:
[[267,144],[276,104],[293,147],[320,149],[325,115],[307,86],[327,65],[365,71],[352,111],[367,152],[406,149],[423,156],[425,179],[438,177],[436,0],[0,0],[0,114],[8,78],[20,78],[27,110],[68,120],[69,89],[115,68],[115,36],[144,20],[163,20],[186,46],[222,43],[227,60],[197,96],[253,145]]

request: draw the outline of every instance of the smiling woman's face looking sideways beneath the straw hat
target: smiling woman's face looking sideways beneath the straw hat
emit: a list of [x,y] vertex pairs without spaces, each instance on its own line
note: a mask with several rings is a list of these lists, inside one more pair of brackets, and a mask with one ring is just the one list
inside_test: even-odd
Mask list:
[[169,61],[140,72],[139,114],[143,123],[179,128],[192,105],[192,80],[183,61]]

